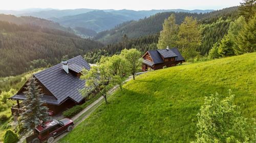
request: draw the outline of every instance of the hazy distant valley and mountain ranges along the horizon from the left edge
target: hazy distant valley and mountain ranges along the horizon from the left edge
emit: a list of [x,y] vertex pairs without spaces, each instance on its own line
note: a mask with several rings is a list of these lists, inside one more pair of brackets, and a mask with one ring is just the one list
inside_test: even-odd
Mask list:
[[[3,14],[12,14],[15,16],[33,16],[45,18],[58,22],[60,25],[67,28],[72,28],[75,33],[81,37],[94,37],[96,33],[110,30],[116,25],[125,21],[139,20],[145,17],[152,16],[161,12],[188,12],[188,13],[207,13],[214,10],[97,10],[97,9],[27,9],[22,11],[4,11]],[[1,19],[0,19],[1,20]],[[70,31],[70,30],[69,30]]]

